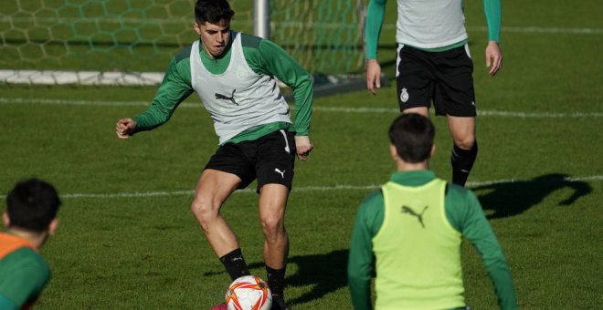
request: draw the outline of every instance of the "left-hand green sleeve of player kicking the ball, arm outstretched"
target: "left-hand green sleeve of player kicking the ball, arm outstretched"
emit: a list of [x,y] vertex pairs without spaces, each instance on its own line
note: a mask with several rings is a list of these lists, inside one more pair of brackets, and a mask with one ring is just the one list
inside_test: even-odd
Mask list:
[[[190,53],[190,47],[188,52]],[[151,106],[133,118],[136,121],[134,133],[163,125],[172,117],[178,105],[193,93],[189,64],[187,57],[172,59],[165,70],[164,79],[155,93]]]

